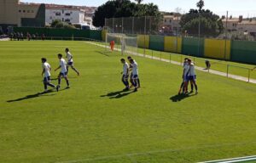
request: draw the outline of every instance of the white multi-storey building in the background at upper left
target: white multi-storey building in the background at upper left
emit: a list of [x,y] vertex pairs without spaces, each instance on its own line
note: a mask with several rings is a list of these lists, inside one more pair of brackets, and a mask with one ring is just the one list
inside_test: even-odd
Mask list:
[[74,6],[47,4],[45,22],[51,24],[53,20],[61,20],[72,24],[85,23],[85,10]]

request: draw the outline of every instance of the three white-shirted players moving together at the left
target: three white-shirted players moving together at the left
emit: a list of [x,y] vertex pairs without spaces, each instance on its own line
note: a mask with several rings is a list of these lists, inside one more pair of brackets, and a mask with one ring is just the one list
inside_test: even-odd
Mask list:
[[61,53],[59,53],[57,55],[58,59],[60,60],[60,65],[55,69],[55,71],[61,69],[61,72],[58,76],[58,85],[57,86],[55,86],[54,84],[51,83],[51,78],[50,78],[51,66],[47,62],[47,59],[46,58],[41,59],[42,60],[42,67],[43,67],[42,76],[44,76],[44,80],[43,80],[44,81],[44,93],[48,92],[48,86],[56,88],[56,90],[59,91],[59,89],[61,87],[61,78],[62,77],[66,80],[67,88],[69,88],[69,81],[68,81],[68,78],[67,78],[67,73],[68,73],[69,66],[79,76],[79,70],[74,68],[74,66],[73,66],[73,55],[69,52],[68,48],[65,49],[65,53],[66,53],[67,62],[66,62],[65,59],[63,59],[63,56],[62,56]]

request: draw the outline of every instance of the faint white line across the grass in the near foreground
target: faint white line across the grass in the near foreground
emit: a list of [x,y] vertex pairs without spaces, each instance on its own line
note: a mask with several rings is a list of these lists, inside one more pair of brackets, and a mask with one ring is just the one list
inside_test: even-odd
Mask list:
[[164,154],[168,152],[178,152],[183,150],[191,150],[191,149],[211,149],[211,148],[218,148],[218,147],[229,147],[234,145],[245,145],[245,144],[252,144],[256,142],[243,142],[243,143],[223,143],[223,144],[208,144],[201,147],[190,147],[190,148],[183,148],[183,149],[162,149],[162,150],[152,150],[148,152],[138,152],[138,153],[131,153],[131,154],[124,154],[124,155],[106,155],[106,156],[98,156],[95,158],[87,158],[81,160],[66,160],[66,161],[58,161],[55,163],[79,163],[79,162],[88,162],[88,161],[96,161],[96,160],[111,160],[111,159],[119,159],[119,158],[129,158],[131,156],[138,156],[138,155],[154,155],[154,154]]

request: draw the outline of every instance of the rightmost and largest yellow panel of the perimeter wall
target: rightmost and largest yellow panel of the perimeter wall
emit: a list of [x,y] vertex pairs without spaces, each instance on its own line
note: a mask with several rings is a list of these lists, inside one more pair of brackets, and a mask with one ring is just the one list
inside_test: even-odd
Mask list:
[[230,59],[230,40],[205,39],[205,57]]

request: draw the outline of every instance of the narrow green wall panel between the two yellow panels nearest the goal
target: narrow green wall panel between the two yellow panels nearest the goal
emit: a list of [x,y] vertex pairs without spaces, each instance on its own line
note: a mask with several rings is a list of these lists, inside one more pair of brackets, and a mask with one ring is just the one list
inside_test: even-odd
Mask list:
[[158,35],[150,35],[149,48],[152,50],[164,51],[165,50],[165,37]]

